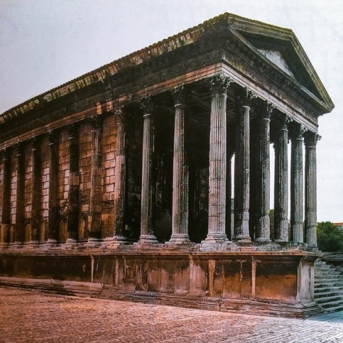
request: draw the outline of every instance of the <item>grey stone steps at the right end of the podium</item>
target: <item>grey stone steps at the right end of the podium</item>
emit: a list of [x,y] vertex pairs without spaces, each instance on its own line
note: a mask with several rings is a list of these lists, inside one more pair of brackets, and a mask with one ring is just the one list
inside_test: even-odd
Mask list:
[[343,311],[343,274],[321,260],[314,263],[314,300],[326,313]]

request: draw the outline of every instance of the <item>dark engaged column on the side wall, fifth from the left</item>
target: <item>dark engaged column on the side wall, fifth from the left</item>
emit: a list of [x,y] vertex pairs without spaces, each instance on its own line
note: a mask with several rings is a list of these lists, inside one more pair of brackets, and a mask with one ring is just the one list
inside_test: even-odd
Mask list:
[[78,240],[79,228],[79,144],[78,126],[69,129],[69,206],[67,244]]

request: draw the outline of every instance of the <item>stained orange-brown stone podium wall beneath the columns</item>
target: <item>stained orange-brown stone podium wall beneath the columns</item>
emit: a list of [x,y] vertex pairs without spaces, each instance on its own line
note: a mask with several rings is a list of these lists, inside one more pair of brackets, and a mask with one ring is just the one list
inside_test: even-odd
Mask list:
[[167,249],[111,254],[2,253],[0,281],[3,276],[15,276],[51,279],[54,284],[92,282],[102,285],[104,298],[307,316],[318,311],[311,292],[315,259],[299,252],[216,253]]

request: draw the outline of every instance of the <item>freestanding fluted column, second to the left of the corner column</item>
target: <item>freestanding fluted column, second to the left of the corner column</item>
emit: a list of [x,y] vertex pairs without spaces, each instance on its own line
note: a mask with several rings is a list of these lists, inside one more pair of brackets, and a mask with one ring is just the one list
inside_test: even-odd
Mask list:
[[141,236],[140,244],[158,243],[154,235],[154,122],[152,120],[152,99],[141,100],[143,108],[143,160],[141,196]]

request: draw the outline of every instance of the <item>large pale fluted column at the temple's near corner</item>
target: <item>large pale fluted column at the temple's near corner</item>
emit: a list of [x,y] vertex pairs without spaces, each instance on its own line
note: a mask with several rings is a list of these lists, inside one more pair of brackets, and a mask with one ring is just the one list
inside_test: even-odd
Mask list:
[[226,224],[226,98],[231,80],[214,75],[211,84],[211,128],[209,152],[209,233],[206,243],[228,241]]

